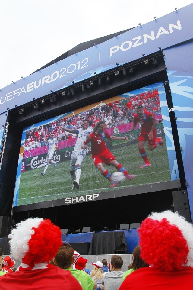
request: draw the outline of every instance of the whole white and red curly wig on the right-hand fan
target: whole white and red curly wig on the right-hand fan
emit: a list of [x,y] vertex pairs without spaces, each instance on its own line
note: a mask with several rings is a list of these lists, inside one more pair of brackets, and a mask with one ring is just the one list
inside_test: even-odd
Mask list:
[[193,266],[193,227],[177,212],[150,214],[138,229],[141,258],[161,271]]

